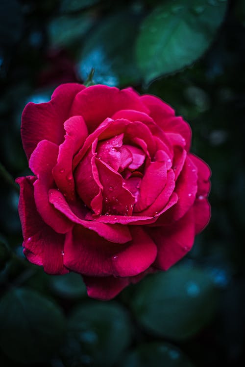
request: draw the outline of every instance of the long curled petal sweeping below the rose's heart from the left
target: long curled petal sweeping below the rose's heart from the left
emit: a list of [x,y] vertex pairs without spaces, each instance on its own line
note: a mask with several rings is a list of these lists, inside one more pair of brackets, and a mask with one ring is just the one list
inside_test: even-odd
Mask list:
[[108,241],[125,243],[132,239],[130,231],[126,226],[120,224],[109,225],[94,220],[87,221],[79,218],[73,213],[64,196],[58,190],[52,189],[49,191],[49,201],[56,209],[66,215],[70,221],[75,224],[80,224],[84,228],[94,230],[99,236],[104,237]]

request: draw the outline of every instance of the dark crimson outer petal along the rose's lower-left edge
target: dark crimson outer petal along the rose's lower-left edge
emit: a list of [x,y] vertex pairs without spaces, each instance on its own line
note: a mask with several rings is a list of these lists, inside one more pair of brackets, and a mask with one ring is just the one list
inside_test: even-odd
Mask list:
[[19,213],[21,218],[24,253],[36,265],[42,265],[48,274],[66,274],[69,270],[63,264],[65,236],[48,227],[37,212],[34,201],[33,176],[20,177]]

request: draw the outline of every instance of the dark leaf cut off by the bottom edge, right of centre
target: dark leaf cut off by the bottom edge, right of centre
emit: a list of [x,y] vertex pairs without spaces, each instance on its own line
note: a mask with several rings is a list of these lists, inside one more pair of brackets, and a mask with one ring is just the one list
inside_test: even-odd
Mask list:
[[151,342],[139,345],[129,353],[122,367],[192,367],[190,361],[174,345]]

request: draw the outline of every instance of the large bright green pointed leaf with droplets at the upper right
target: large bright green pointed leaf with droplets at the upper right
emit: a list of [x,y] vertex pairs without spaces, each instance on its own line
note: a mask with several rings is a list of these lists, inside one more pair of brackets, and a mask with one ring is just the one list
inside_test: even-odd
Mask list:
[[144,20],[136,57],[145,81],[194,63],[213,42],[226,0],[175,0],[156,7]]

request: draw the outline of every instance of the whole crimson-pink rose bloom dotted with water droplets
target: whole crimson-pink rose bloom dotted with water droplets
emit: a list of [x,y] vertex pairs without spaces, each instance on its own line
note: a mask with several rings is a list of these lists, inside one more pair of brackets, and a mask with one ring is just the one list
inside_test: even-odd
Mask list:
[[155,96],[63,84],[27,104],[21,134],[34,174],[17,179],[25,256],[81,274],[90,297],[167,270],[209,221],[210,169]]

